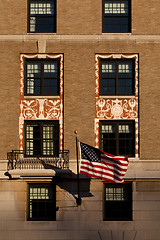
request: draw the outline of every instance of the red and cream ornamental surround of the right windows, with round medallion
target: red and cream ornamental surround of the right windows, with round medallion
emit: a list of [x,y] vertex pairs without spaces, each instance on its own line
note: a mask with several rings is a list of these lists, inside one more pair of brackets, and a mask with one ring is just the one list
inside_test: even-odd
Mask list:
[[[99,96],[100,59],[135,60],[135,96]],[[135,156],[138,156],[138,54],[96,54],[95,56],[95,146],[99,147],[99,120],[135,120]]]

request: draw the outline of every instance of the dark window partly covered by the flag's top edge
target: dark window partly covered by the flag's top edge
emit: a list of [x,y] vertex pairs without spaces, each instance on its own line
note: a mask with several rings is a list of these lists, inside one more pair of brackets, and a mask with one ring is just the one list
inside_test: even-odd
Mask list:
[[134,121],[100,121],[100,148],[113,155],[135,157]]

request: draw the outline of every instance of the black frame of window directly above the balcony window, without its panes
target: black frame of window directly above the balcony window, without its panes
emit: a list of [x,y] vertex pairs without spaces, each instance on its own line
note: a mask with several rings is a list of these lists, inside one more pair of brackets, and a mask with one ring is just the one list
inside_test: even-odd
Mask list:
[[[35,62],[35,63],[40,63],[41,69],[40,69],[40,93],[27,93],[27,80],[29,78],[27,78],[27,64],[31,63],[31,62]],[[44,92],[44,64],[47,62],[55,62],[57,63],[57,93],[53,94],[45,94]],[[26,58],[24,61],[24,96],[59,96],[60,95],[60,59],[37,59],[37,58],[33,58],[33,59],[28,59]]]

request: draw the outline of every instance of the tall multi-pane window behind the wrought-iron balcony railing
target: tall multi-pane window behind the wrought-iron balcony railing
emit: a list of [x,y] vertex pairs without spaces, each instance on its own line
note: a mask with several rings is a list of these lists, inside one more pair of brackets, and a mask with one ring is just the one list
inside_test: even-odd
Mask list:
[[59,122],[25,121],[26,156],[58,156]]

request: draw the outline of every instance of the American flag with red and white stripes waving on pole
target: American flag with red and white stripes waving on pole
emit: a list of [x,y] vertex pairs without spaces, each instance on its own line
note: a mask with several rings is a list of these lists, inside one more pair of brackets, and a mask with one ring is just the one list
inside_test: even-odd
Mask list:
[[80,173],[112,183],[123,183],[128,167],[127,156],[114,156],[80,142]]

